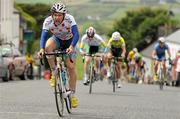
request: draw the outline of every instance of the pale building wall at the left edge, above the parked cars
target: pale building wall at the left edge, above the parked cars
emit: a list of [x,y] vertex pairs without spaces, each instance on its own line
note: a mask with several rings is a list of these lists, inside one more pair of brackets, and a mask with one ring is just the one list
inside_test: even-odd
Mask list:
[[14,0],[0,0],[0,42],[20,43],[20,15],[14,9]]

